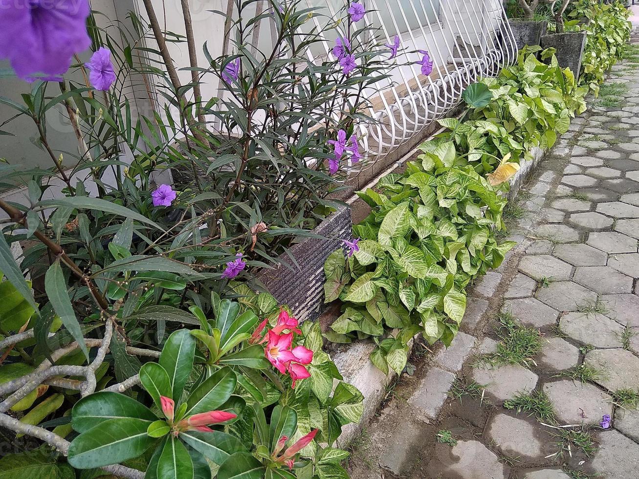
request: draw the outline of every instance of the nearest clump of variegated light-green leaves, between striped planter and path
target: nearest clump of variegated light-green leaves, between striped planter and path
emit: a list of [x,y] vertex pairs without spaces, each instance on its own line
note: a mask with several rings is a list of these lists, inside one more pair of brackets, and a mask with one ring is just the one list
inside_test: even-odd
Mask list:
[[[428,149],[428,148],[427,148]],[[359,250],[325,264],[325,301],[343,301],[327,333],[334,342],[373,337],[371,360],[401,374],[407,343],[422,333],[447,346],[466,308],[465,287],[497,268],[512,241],[498,243],[506,200],[456,155],[452,142],[358,192],[373,211],[353,227]]]

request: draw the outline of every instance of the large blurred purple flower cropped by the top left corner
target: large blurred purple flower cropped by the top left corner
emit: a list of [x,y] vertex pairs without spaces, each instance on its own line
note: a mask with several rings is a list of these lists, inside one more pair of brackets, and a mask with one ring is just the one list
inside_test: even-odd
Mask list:
[[0,0],[0,58],[21,79],[59,80],[91,46],[88,0]]

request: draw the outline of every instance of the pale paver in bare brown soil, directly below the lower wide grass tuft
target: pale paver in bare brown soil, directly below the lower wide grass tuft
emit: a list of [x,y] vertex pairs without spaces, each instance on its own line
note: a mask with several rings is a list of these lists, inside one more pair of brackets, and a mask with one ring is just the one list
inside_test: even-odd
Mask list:
[[541,459],[548,455],[546,447],[554,447],[550,434],[537,423],[508,414],[493,416],[486,426],[486,439],[503,455],[518,457],[523,463]]

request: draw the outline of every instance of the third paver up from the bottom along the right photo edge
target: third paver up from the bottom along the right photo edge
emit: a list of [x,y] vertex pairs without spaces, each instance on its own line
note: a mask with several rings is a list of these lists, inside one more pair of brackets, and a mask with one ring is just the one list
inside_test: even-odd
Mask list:
[[639,389],[639,358],[626,349],[596,349],[585,362],[601,372],[594,382],[609,391]]

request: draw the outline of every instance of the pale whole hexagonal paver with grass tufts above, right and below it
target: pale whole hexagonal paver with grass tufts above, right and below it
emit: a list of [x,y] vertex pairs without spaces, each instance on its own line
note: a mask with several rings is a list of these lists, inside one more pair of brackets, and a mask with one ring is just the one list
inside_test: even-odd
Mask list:
[[570,313],[559,320],[559,329],[567,337],[594,347],[621,347],[624,327],[599,313]]

